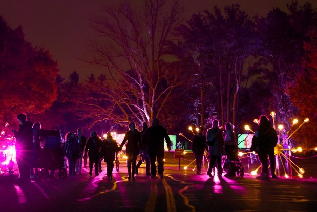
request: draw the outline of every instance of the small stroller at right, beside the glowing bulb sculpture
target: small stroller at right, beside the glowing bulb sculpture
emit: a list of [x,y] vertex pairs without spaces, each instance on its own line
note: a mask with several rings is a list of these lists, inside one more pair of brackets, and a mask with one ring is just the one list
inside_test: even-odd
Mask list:
[[238,157],[238,151],[235,151],[235,156],[231,158],[228,151],[234,150],[225,150],[225,155],[223,156],[223,170],[227,173],[230,172],[230,168],[232,168],[231,172],[234,172],[237,176],[243,177],[244,176],[244,169],[241,163],[240,158]]

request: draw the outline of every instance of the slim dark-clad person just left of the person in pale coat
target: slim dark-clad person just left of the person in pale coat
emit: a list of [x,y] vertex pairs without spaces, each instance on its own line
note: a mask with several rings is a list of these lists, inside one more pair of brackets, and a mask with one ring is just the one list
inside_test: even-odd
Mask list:
[[196,135],[194,135],[193,138],[193,144],[192,144],[192,151],[195,155],[196,159],[196,167],[197,167],[197,174],[202,175],[201,173],[201,164],[202,159],[204,157],[205,149],[208,151],[208,146],[206,144],[206,136],[203,134],[204,128],[201,126],[199,128],[199,131]]

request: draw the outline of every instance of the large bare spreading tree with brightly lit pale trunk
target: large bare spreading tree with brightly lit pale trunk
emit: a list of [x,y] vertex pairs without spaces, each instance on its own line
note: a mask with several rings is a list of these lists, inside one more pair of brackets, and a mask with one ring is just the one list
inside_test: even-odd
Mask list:
[[107,80],[83,84],[83,93],[74,96],[80,115],[94,123],[165,122],[166,102],[184,80],[165,54],[182,12],[178,1],[146,0],[140,10],[124,1],[102,11],[92,22],[99,38],[91,43],[94,58],[88,62],[103,69]]

